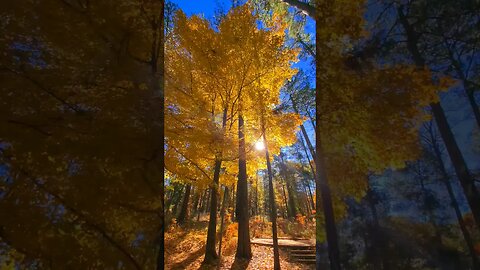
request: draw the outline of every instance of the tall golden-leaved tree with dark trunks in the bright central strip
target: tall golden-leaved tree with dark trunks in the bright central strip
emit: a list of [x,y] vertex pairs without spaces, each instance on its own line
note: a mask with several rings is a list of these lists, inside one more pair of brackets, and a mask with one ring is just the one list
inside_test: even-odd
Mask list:
[[[220,176],[227,182],[235,176],[232,172],[239,172],[237,205],[248,205],[247,175],[264,166],[251,151],[252,141],[261,137],[257,115],[250,112],[258,98],[256,89],[268,87],[272,91],[263,92],[262,98],[278,100],[280,87],[294,73],[290,64],[296,53],[284,46],[283,28],[273,26],[269,30],[258,29],[256,17],[247,5],[225,15],[218,31],[196,16],[186,18],[178,13],[175,21],[172,55],[167,58],[172,70],[171,78],[167,78],[167,85],[172,89],[171,98],[167,93],[167,100],[172,104],[167,155],[171,153],[173,158],[173,164],[167,164],[167,168],[183,174],[184,178],[193,174],[211,185],[206,263],[217,257],[216,201]],[[196,121],[199,116],[201,121]],[[194,135],[196,132],[202,135]],[[213,153],[212,145],[216,149]],[[212,157],[214,166],[208,164]],[[252,160],[248,168],[247,159]],[[212,168],[213,177],[210,177]],[[242,211],[237,211],[236,256],[250,258],[248,209]]]

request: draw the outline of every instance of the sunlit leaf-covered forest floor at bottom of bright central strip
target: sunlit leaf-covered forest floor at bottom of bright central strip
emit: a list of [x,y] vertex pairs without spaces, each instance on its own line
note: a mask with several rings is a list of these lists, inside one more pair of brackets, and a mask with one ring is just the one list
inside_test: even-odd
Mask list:
[[[236,229],[236,223],[231,223],[225,228],[221,263],[220,266],[213,266],[202,265],[207,238],[207,221],[195,222],[184,228],[170,227],[165,233],[165,269],[273,269],[273,248],[271,246],[252,244],[253,257],[250,261],[235,260]],[[303,265],[290,261],[288,251],[283,248],[280,248],[280,264],[282,269],[315,269],[314,265]]]

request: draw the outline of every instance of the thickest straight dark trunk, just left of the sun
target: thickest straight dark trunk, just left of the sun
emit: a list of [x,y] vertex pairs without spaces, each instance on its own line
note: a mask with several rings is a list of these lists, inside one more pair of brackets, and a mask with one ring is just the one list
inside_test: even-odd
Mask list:
[[[238,242],[236,258],[252,258],[250,247],[249,213],[248,213],[248,182],[247,182],[247,154],[245,151],[245,125],[243,116],[238,116],[238,182],[237,182],[237,221]],[[238,207],[243,206],[243,207]]]

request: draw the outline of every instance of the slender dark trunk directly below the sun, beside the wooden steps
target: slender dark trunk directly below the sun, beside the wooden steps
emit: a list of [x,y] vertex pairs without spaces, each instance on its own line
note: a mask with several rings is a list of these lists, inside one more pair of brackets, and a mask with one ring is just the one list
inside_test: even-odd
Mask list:
[[265,159],[267,161],[268,171],[268,190],[270,201],[270,220],[272,221],[272,238],[273,238],[273,269],[280,270],[280,253],[278,250],[277,237],[277,207],[275,205],[275,194],[273,193],[273,175],[272,165],[270,164],[270,156],[268,153],[267,136],[265,134],[265,127],[263,127],[263,144],[265,145]]

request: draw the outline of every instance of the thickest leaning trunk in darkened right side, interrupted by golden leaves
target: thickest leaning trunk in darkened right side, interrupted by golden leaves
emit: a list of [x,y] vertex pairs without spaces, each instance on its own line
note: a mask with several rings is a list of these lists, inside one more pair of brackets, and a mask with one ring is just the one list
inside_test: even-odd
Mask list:
[[[403,8],[397,9],[400,23],[402,24],[407,37],[407,47],[412,55],[415,64],[419,68],[425,67],[425,60],[423,59],[420,50],[418,49],[418,34],[415,32],[413,26],[408,22],[408,19],[403,13]],[[475,187],[474,179],[467,167],[465,159],[458,147],[455,137],[453,136],[450,125],[448,124],[447,117],[443,111],[439,102],[430,104],[433,117],[437,124],[440,135],[447,148],[448,155],[455,169],[455,173],[460,181],[468,204],[472,210],[473,217],[477,228],[480,226],[480,193]]]

